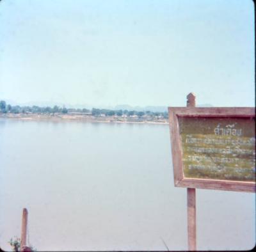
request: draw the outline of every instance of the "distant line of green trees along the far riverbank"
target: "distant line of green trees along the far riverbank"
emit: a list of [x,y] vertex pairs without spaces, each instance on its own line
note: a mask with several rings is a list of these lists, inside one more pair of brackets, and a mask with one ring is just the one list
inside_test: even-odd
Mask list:
[[42,113],[42,114],[55,114],[55,113],[92,113],[93,116],[138,116],[141,118],[143,116],[152,116],[152,117],[163,117],[168,118],[167,112],[152,112],[152,111],[128,111],[127,109],[119,109],[119,110],[111,110],[111,109],[74,109],[74,108],[66,108],[66,107],[40,107],[40,106],[12,106],[10,104],[6,104],[4,100],[0,100],[0,113]]

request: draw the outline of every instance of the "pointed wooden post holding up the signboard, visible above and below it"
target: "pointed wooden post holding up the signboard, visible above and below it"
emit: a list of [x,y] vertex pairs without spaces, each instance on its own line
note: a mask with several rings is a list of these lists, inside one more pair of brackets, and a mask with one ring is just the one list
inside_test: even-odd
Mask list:
[[[189,93],[187,96],[187,107],[196,106],[195,94]],[[196,250],[196,189],[188,188],[188,249]]]

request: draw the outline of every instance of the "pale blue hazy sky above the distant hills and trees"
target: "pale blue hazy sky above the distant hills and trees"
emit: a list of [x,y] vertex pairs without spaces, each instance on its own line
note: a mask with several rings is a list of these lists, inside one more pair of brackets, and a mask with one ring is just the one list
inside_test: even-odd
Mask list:
[[254,106],[250,0],[2,0],[0,99]]

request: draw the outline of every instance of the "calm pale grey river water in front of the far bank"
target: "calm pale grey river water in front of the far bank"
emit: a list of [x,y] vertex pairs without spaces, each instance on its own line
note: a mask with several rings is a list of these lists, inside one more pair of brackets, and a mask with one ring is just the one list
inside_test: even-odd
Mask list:
[[[186,250],[168,125],[0,119],[0,246],[38,251]],[[196,189],[198,249],[252,249],[255,194]]]

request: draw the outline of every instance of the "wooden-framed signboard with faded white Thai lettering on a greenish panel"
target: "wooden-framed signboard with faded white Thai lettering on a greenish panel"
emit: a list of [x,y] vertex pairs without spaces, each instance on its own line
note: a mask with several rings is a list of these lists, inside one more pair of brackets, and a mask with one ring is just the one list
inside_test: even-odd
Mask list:
[[169,107],[175,186],[255,192],[253,107]]

